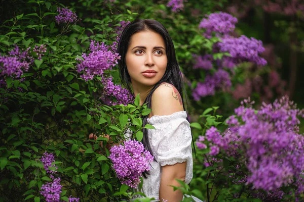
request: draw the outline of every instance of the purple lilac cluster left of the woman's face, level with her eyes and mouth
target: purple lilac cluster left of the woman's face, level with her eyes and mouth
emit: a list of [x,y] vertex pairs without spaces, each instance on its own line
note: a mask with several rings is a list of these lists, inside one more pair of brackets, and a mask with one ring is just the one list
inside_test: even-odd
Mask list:
[[118,63],[121,58],[118,53],[110,51],[111,47],[103,42],[91,41],[91,53],[83,54],[84,60],[78,59],[80,63],[77,65],[78,73],[82,73],[81,78],[86,81],[92,80],[95,75],[102,76],[104,70],[111,69]]

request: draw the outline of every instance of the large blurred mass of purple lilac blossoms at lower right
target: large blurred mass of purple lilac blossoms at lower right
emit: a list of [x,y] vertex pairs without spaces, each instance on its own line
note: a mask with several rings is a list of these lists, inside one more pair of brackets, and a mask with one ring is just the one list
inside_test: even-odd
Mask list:
[[[247,105],[245,107],[245,104]],[[304,192],[304,136],[299,134],[299,110],[287,96],[273,104],[263,103],[259,110],[252,108],[250,99],[235,109],[222,134],[215,127],[206,131],[206,139],[200,137],[197,145],[209,143],[210,156],[223,154],[244,159],[249,175],[246,184],[254,189],[275,191],[282,186],[296,185],[296,195]],[[211,148],[212,147],[212,148]],[[244,154],[239,154],[239,149]],[[244,158],[245,157],[245,158]]]

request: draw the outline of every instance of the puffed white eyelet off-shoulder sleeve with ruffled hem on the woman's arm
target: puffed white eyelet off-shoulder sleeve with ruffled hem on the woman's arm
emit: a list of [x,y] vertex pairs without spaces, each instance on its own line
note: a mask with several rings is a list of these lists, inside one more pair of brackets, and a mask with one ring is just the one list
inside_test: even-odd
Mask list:
[[156,130],[149,129],[149,143],[161,166],[186,162],[186,179],[193,177],[192,135],[185,111],[166,116],[153,116],[147,122]]

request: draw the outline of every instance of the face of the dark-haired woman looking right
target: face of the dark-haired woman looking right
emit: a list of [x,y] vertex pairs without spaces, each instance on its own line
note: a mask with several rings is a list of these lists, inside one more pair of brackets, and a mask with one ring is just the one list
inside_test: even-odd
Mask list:
[[132,35],[126,54],[126,65],[133,88],[153,86],[164,76],[167,67],[166,46],[163,37],[153,31]]

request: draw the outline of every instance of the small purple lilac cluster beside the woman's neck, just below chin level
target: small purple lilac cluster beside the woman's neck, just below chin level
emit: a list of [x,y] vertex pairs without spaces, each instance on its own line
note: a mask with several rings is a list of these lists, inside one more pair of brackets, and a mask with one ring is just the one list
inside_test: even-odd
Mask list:
[[134,97],[130,91],[121,85],[114,84],[112,77],[102,77],[101,82],[103,84],[103,92],[100,98],[115,97],[117,100],[116,102],[109,101],[109,105],[128,105],[134,102]]

